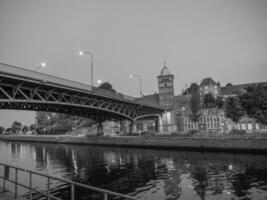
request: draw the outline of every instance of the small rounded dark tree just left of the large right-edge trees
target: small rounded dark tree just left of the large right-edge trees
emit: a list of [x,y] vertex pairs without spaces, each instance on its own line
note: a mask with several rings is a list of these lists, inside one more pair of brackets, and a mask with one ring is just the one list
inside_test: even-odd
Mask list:
[[234,123],[238,123],[240,118],[245,114],[237,97],[229,97],[225,102],[225,116],[230,118]]

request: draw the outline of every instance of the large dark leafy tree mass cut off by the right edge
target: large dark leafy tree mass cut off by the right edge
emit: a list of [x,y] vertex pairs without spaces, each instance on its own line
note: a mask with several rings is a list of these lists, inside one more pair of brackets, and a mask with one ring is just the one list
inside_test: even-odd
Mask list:
[[258,84],[245,88],[240,96],[242,108],[248,116],[267,124],[267,84]]

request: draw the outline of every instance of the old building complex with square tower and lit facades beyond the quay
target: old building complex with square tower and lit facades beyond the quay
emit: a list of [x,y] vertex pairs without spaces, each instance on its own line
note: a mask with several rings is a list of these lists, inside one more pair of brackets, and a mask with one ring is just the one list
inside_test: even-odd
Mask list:
[[227,84],[221,87],[219,82],[215,82],[211,77],[204,78],[200,85],[192,83],[182,95],[174,94],[174,75],[164,63],[158,78],[158,93],[145,95],[137,98],[137,101],[164,106],[166,112],[162,117],[157,119],[157,123],[153,119],[146,119],[137,122],[136,131],[153,132],[158,131],[163,134],[172,132],[188,132],[198,130],[199,132],[227,132],[233,128],[246,130],[247,132],[255,132],[266,130],[267,126],[259,124],[255,119],[244,116],[238,124],[233,123],[225,117],[224,110],[218,108],[200,109],[200,117],[195,122],[192,120],[192,112],[190,108],[190,98],[192,92],[198,92],[200,102],[203,103],[205,95],[212,94],[216,99],[223,99],[230,96],[237,96],[245,92],[247,86],[258,83],[232,85]]

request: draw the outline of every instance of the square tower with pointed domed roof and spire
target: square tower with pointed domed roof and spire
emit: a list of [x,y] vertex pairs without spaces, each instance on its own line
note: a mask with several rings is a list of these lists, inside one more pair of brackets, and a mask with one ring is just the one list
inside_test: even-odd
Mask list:
[[170,73],[164,61],[163,68],[158,76],[159,103],[167,108],[171,105],[174,97],[173,79],[174,75]]

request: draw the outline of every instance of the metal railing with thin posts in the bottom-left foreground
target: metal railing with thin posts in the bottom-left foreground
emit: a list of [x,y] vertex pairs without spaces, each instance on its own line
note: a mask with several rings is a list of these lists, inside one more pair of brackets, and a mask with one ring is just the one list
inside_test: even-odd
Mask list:
[[[11,165],[7,165],[4,163],[0,163],[0,166],[4,167],[3,170],[3,176],[0,176],[1,179],[3,179],[3,191],[6,191],[6,182],[10,182],[13,183],[15,185],[15,191],[14,191],[14,196],[15,198],[18,197],[18,186],[29,189],[29,193],[28,193],[28,199],[32,200],[33,199],[33,192],[36,192],[42,196],[47,197],[48,200],[50,199],[54,199],[54,200],[62,200],[58,197],[55,197],[51,194],[51,190],[52,188],[50,188],[50,184],[51,184],[51,180],[57,180],[60,181],[64,184],[68,184],[70,185],[71,188],[71,200],[75,200],[75,187],[80,187],[80,188],[84,188],[86,190],[90,190],[90,191],[94,191],[94,192],[98,192],[103,194],[103,199],[104,200],[108,200],[109,196],[115,196],[115,197],[119,197],[119,198],[123,198],[123,199],[130,199],[130,200],[137,200],[134,197],[128,196],[128,195],[124,195],[124,194],[120,194],[117,192],[112,192],[109,190],[105,190],[105,189],[101,189],[101,188],[97,188],[97,187],[93,187],[93,186],[89,186],[83,183],[78,183],[75,181],[70,181],[70,180],[65,180],[62,178],[57,178],[54,176],[50,176],[50,175],[46,175],[46,174],[42,174],[39,172],[35,172],[35,171],[31,171],[31,170],[27,170],[27,169],[22,169],[19,167],[15,167],[15,166],[11,166]],[[15,170],[15,180],[11,180],[9,178],[9,174],[10,174],[10,169],[14,169]],[[26,172],[29,174],[29,183],[28,185],[24,185],[23,183],[19,183],[18,182],[18,173],[19,172]],[[41,177],[45,177],[47,179],[47,190],[45,192],[42,192],[36,188],[33,187],[33,180],[32,180],[32,176],[33,175],[38,175]]]

